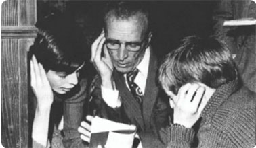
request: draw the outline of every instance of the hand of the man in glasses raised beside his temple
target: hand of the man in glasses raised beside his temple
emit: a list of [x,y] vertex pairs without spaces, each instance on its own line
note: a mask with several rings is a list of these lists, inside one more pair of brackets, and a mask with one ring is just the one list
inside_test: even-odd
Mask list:
[[[108,53],[108,49],[104,45],[105,40],[106,38],[104,37],[104,32],[102,32],[91,45],[91,62],[100,74],[102,86],[109,89],[114,89],[114,84],[112,81],[114,67],[110,54]],[[102,57],[102,48],[104,50],[104,57]]]

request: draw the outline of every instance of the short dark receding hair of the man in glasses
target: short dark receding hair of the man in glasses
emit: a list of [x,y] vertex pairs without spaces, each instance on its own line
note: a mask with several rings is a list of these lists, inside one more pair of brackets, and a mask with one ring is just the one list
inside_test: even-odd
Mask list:
[[[144,17],[144,25],[146,25],[146,33],[150,32],[150,17],[148,11],[149,3],[146,1],[110,1],[104,10],[104,28],[110,17],[120,20],[128,20],[129,18],[142,14]],[[106,28],[105,28],[106,29]]]

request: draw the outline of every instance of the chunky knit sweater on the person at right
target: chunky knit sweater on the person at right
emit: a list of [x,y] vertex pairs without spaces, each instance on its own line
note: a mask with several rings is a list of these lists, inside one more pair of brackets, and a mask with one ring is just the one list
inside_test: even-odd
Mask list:
[[192,128],[171,124],[162,131],[168,139],[167,147],[254,147],[255,94],[246,87],[238,89],[238,81],[219,87],[207,102],[198,133]]

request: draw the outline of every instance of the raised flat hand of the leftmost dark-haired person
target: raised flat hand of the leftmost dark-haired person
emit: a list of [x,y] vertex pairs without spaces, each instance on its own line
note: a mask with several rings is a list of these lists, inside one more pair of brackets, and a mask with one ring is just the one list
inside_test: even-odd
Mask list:
[[54,100],[54,94],[51,85],[47,79],[45,69],[33,55],[30,61],[31,87],[37,98],[37,107],[39,111],[51,108]]

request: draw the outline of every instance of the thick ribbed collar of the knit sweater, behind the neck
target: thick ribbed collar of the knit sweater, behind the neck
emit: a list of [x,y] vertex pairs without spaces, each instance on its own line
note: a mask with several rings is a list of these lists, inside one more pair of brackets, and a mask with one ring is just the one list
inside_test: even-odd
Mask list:
[[239,88],[239,81],[235,79],[234,81],[230,81],[226,84],[221,85],[216,91],[213,93],[213,96],[207,102],[204,110],[202,110],[202,114],[200,115],[202,118],[211,118],[217,108],[225,102],[228,97],[234,93]]

